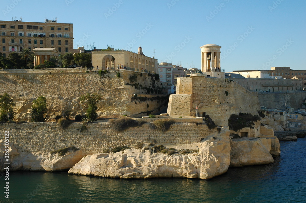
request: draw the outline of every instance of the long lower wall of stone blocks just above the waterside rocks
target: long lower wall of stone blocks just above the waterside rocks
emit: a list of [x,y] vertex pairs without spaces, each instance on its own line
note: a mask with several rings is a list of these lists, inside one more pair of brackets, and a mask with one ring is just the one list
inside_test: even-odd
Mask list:
[[152,129],[149,123],[116,133],[108,122],[92,123],[87,130],[80,132],[82,124],[72,123],[63,130],[56,123],[0,124],[2,132],[9,131],[10,142],[19,152],[50,152],[64,147],[75,146],[82,149],[83,155],[102,153],[109,147],[129,146],[136,143],[198,143],[216,129],[206,125],[175,123],[167,132]]

